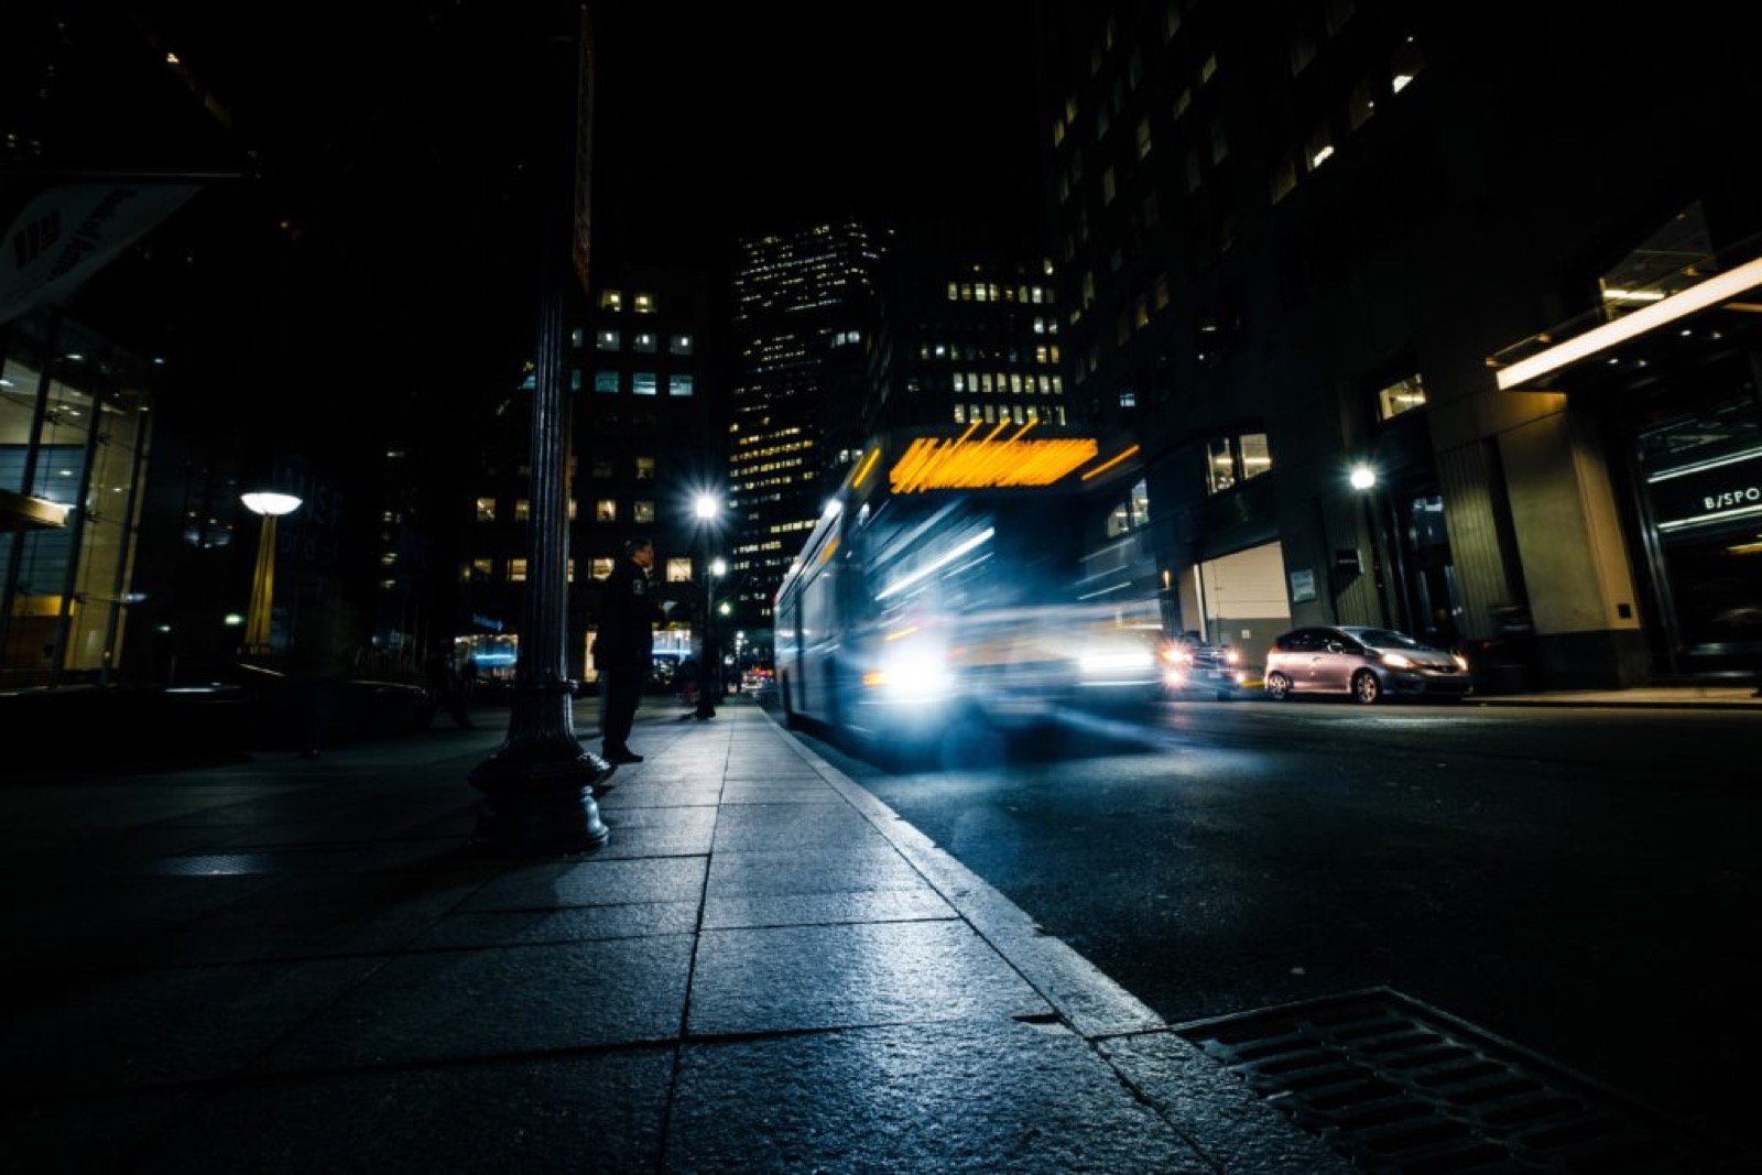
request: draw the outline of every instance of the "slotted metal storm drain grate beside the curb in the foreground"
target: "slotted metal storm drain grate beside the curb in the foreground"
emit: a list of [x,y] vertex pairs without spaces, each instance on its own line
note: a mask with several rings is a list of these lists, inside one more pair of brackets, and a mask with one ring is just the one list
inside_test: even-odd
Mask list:
[[1175,1032],[1364,1171],[1683,1175],[1739,1154],[1387,988]]

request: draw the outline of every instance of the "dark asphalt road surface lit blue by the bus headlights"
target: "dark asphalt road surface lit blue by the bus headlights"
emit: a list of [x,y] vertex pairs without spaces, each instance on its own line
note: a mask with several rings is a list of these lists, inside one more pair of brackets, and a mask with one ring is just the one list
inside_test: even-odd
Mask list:
[[1388,987],[1744,1136],[1762,719],[1179,701],[962,770],[807,738],[1172,1024]]

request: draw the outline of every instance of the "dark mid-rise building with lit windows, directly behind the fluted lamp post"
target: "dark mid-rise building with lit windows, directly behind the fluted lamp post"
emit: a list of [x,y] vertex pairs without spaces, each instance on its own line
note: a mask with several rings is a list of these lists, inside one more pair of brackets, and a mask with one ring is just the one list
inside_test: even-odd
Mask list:
[[[636,536],[655,544],[652,578],[677,604],[655,652],[678,661],[701,632],[714,536],[696,514],[722,493],[721,303],[707,271],[608,266],[573,333],[569,463],[569,675],[594,682],[597,585]],[[469,502],[456,636],[490,680],[511,680],[530,550],[530,372],[483,435]]]

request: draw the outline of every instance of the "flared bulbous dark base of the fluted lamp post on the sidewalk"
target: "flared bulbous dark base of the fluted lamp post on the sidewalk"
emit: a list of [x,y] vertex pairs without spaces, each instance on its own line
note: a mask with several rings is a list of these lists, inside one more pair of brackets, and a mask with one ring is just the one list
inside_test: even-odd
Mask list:
[[472,846],[492,856],[564,856],[606,844],[594,787],[617,768],[581,750],[552,763],[490,759],[470,773],[483,793]]

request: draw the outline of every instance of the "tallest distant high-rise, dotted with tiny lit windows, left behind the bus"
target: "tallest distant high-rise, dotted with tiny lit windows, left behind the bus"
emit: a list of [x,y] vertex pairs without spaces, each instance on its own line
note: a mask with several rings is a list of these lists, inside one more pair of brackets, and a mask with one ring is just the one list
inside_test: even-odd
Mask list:
[[772,597],[862,446],[865,354],[892,234],[826,220],[742,240],[733,270],[729,576],[738,622]]

